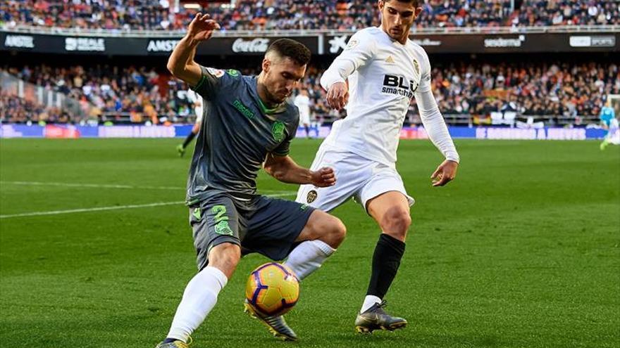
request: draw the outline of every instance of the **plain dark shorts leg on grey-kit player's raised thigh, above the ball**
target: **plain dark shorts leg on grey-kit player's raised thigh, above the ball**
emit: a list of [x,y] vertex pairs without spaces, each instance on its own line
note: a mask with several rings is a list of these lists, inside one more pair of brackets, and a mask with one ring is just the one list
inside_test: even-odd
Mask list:
[[273,260],[284,259],[314,208],[290,200],[261,196],[247,216],[247,233],[242,238],[244,252],[259,252]]

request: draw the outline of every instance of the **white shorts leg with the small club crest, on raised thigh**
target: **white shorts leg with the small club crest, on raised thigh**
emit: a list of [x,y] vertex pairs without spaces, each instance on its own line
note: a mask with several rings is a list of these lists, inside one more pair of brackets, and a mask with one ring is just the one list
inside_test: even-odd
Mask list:
[[299,186],[295,200],[325,212],[330,212],[347,202],[364,187],[366,181],[373,175],[372,162],[352,153],[337,153],[320,149],[311,169],[317,170],[322,167],[334,169],[335,185],[323,188],[314,185]]

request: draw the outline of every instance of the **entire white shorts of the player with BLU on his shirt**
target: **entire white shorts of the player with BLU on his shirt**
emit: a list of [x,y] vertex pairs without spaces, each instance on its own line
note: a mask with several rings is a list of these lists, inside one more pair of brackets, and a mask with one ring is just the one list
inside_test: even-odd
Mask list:
[[414,198],[407,194],[400,175],[393,167],[354,153],[324,149],[321,146],[311,170],[322,167],[334,169],[336,184],[325,188],[302,185],[297,191],[297,202],[330,212],[353,198],[366,210],[368,200],[386,192],[397,191],[407,198],[409,206],[414,205]]

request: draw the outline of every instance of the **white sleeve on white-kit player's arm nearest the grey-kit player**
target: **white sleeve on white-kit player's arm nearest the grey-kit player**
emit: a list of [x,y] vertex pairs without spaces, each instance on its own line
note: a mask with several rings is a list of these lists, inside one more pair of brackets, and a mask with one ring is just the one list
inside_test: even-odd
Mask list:
[[321,76],[321,86],[326,91],[336,82],[345,82],[355,70],[368,64],[375,56],[375,39],[367,32],[356,32],[333,61],[328,70]]

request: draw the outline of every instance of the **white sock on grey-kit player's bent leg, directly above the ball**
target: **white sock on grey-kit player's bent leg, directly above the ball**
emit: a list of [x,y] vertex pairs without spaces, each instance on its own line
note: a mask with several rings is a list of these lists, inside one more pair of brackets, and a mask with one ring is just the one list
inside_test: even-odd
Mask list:
[[336,250],[321,240],[306,240],[297,245],[284,262],[295,272],[299,280],[316,271]]

